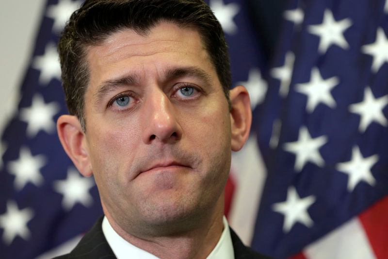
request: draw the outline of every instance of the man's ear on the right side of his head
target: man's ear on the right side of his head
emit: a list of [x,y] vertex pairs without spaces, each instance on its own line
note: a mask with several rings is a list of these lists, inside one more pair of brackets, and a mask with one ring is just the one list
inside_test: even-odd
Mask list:
[[239,151],[249,136],[252,124],[251,102],[244,86],[236,86],[229,92],[232,127],[232,150]]

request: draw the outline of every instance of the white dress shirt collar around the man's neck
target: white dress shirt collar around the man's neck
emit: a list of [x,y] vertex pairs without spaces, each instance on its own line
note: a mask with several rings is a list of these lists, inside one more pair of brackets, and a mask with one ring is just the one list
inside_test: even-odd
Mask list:
[[[225,216],[223,218],[223,223],[224,230],[220,240],[207,259],[234,259],[232,238],[230,237],[229,225],[227,224]],[[120,235],[114,231],[106,217],[104,217],[102,221],[102,232],[117,259],[126,259],[129,255],[131,258],[137,259],[158,259],[156,256],[132,245],[120,237]]]

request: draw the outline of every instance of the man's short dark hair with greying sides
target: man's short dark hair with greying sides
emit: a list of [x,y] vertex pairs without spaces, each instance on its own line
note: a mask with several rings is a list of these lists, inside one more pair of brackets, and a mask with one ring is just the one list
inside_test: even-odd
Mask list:
[[203,0],[86,0],[71,15],[58,43],[67,108],[78,117],[84,131],[84,94],[89,82],[87,47],[100,45],[125,29],[147,35],[161,21],[199,33],[229,103],[231,74],[225,36]]

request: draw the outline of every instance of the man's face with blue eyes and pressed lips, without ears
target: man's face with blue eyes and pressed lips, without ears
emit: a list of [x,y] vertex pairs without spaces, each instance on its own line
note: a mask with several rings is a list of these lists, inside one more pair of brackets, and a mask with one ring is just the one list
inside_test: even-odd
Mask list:
[[128,29],[87,59],[84,143],[105,213],[127,231],[157,229],[223,202],[231,119],[198,33]]

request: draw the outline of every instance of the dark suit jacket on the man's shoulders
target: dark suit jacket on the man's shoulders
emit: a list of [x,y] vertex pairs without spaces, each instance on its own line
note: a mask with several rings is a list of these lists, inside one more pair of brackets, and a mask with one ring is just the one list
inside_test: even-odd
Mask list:
[[[85,234],[73,251],[55,259],[116,259],[102,232],[102,219],[103,217],[97,220],[96,224]],[[269,259],[269,257],[260,255],[251,248],[246,247],[232,229],[230,229],[230,235],[235,259]]]

